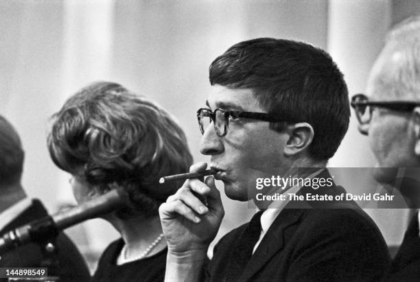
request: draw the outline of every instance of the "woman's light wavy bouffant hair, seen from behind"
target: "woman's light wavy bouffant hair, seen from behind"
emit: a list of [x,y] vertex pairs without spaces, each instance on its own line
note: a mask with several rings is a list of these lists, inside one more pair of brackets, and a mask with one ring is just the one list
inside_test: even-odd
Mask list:
[[49,154],[60,169],[103,192],[123,187],[128,207],[119,218],[156,215],[182,183],[159,178],[187,172],[192,156],[174,117],[113,82],[95,82],[51,117]]

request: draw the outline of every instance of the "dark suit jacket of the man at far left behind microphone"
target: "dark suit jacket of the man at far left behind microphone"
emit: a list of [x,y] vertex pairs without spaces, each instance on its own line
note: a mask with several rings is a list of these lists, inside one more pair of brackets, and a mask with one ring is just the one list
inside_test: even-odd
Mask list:
[[[7,231],[14,228],[45,217],[47,211],[39,200],[32,200],[32,204],[17,218],[12,220],[3,230],[0,235],[4,235]],[[60,281],[89,281],[89,270],[84,262],[82,255],[64,233],[58,235],[56,246],[58,248],[58,274]],[[27,244],[16,248],[10,252],[1,255],[1,268],[38,268],[43,261],[43,253],[40,246],[37,244]],[[0,279],[1,281],[1,279]]]

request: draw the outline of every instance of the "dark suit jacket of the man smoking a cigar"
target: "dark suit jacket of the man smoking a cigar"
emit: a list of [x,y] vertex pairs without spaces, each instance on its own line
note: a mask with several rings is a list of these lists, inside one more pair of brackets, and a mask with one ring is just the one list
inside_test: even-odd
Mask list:
[[[325,174],[324,174],[325,175]],[[326,175],[329,175],[326,172]],[[299,193],[337,195],[342,187]],[[237,281],[378,281],[390,257],[379,229],[355,202],[323,202],[294,209],[290,202],[277,216]],[[207,281],[225,281],[226,263],[247,224],[225,235],[215,246]]]

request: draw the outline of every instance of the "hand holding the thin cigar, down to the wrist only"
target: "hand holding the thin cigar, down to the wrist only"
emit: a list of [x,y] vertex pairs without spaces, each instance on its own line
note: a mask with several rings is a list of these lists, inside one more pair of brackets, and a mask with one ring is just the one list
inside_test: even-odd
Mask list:
[[[206,163],[196,163],[190,172],[202,172]],[[168,256],[185,258],[193,252],[207,252],[218,233],[224,209],[213,176],[205,182],[186,180],[183,187],[159,208]]]

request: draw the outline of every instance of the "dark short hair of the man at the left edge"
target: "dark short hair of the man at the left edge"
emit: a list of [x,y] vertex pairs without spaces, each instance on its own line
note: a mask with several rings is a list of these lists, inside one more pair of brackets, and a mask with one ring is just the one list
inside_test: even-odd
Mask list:
[[24,155],[16,130],[0,115],[0,185],[19,183]]

